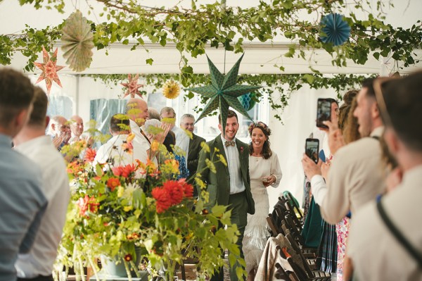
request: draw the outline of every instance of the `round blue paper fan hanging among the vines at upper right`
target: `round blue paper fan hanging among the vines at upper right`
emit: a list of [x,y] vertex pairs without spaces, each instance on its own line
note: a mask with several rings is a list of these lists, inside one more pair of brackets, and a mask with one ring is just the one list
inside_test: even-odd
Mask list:
[[350,26],[343,20],[343,15],[338,13],[326,15],[322,18],[320,25],[325,34],[321,36],[321,41],[324,43],[333,43],[334,46],[339,46],[350,37]]

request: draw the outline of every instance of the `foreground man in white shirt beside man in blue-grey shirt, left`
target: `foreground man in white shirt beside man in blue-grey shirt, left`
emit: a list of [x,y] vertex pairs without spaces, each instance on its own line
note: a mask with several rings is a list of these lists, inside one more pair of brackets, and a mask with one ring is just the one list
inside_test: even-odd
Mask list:
[[45,135],[49,117],[48,99],[39,87],[34,91],[34,109],[27,125],[13,138],[15,150],[27,156],[41,168],[42,191],[48,201],[39,232],[32,249],[19,254],[15,268],[18,280],[53,280],[51,272],[65,225],[70,199],[69,179],[63,156]]

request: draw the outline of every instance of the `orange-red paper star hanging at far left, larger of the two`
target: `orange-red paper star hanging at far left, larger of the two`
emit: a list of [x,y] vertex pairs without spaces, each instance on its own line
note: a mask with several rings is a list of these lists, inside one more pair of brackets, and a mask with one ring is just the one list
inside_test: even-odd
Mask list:
[[56,82],[57,85],[62,87],[60,83],[60,79],[58,79],[57,72],[58,70],[65,68],[65,66],[56,65],[57,63],[57,48],[54,51],[53,56],[49,57],[49,53],[47,53],[44,46],[42,46],[42,58],[44,63],[34,63],[37,68],[42,70],[41,75],[39,75],[37,82],[41,82],[42,80],[46,80],[46,87],[47,87],[47,94],[50,94],[51,84],[52,82]]

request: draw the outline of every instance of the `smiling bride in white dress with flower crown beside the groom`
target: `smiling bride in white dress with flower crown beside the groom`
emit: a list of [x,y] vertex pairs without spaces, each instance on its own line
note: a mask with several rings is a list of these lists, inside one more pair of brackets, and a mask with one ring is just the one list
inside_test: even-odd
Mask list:
[[262,122],[252,123],[249,128],[250,190],[255,201],[255,214],[248,214],[248,225],[243,237],[248,281],[255,279],[255,273],[269,236],[267,216],[269,200],[267,187],[278,187],[281,180],[279,158],[271,151],[268,137],[271,130]]

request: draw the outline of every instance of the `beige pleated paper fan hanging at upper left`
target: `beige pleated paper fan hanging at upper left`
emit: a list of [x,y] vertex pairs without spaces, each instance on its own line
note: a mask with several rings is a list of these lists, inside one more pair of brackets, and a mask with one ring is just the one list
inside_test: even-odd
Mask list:
[[88,20],[80,11],[76,11],[65,21],[62,32],[61,49],[65,52],[63,56],[67,58],[69,68],[74,71],[85,70],[91,65],[91,49],[94,48],[94,35]]

